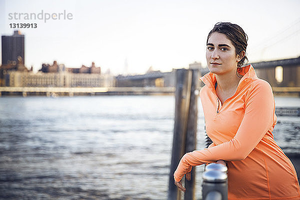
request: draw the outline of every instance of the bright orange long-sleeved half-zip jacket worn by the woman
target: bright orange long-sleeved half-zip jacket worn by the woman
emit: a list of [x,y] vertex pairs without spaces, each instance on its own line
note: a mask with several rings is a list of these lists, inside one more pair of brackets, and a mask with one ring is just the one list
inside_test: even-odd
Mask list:
[[300,199],[295,169],[272,134],[276,124],[271,86],[257,78],[251,65],[242,67],[236,92],[223,104],[217,98],[213,73],[200,97],[206,133],[213,141],[208,148],[184,154],[174,172],[180,181],[192,166],[227,161],[228,199]]

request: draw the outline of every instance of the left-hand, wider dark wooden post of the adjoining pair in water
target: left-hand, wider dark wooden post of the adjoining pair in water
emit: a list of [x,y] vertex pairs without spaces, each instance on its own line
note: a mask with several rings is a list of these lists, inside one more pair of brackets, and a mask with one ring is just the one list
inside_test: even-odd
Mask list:
[[179,200],[180,190],[174,184],[173,173],[185,152],[186,132],[188,125],[188,110],[190,103],[192,71],[176,70],[174,136],[171,165],[169,173],[168,200]]

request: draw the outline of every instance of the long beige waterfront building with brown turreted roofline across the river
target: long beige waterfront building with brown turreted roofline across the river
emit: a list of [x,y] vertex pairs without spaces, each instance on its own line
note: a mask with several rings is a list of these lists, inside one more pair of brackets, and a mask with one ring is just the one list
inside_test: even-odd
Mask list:
[[112,87],[115,77],[101,74],[100,67],[92,62],[90,67],[66,68],[64,64],[43,63],[37,73],[28,69],[18,60],[18,64],[0,66],[0,86],[14,87]]

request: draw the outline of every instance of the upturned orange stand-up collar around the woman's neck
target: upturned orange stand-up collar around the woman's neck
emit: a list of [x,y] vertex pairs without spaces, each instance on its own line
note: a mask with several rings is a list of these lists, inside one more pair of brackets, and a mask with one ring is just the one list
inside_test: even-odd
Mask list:
[[[245,66],[242,66],[242,67],[238,68],[237,73],[242,75],[242,78],[238,82],[237,88],[240,86],[240,84],[243,82],[243,80],[245,80],[247,78],[251,78],[251,79],[256,79],[257,78],[255,70],[254,70],[254,68],[251,64],[248,64],[248,65],[245,65]],[[214,90],[214,84],[216,82],[216,78],[215,78],[215,75],[213,73],[208,72],[208,73],[204,74],[202,77],[200,77],[199,79],[202,80],[205,85],[207,85],[208,87],[213,88],[213,90]]]

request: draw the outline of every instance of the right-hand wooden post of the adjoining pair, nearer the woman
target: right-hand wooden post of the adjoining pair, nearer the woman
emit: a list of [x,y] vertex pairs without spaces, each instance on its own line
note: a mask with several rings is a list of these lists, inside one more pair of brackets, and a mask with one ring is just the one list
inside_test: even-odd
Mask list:
[[[198,89],[199,89],[200,73],[198,69],[192,70],[191,88],[190,88],[190,101],[189,111],[187,118],[187,130],[185,140],[185,152],[190,152],[196,149],[196,136],[197,136],[197,116],[198,116]],[[195,199],[195,168],[191,170],[191,180],[184,182],[186,191],[184,193],[185,200]]]

